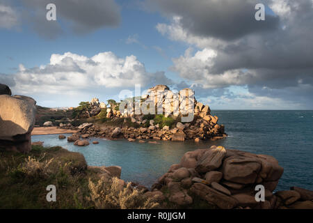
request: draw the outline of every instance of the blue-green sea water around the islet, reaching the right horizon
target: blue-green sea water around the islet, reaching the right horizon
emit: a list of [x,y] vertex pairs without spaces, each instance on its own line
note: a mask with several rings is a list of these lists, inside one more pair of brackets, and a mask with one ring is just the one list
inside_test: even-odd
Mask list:
[[74,146],[58,134],[33,136],[33,141],[45,141],[45,146],[63,146],[83,153],[88,165],[122,167],[124,180],[151,186],[178,163],[187,151],[221,145],[251,153],[273,155],[284,167],[277,187],[291,186],[313,190],[313,111],[213,111],[219,123],[225,124],[229,137],[219,141],[195,144],[193,141],[158,141],[159,144],[139,144],[127,140],[110,141],[91,138],[99,144]]

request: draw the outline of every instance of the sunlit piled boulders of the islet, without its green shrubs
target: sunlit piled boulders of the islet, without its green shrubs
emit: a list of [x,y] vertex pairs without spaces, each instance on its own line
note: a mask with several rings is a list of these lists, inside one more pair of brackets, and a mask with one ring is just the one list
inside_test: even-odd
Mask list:
[[[147,95],[141,97],[141,105],[145,102],[150,102],[156,109],[161,106],[161,113],[168,117],[170,116],[175,120],[175,126],[159,126],[153,120],[147,119],[147,116],[136,112],[135,103],[131,109],[125,107],[124,112],[118,109],[107,108],[106,118],[125,118],[124,124],[115,127],[106,128],[89,128],[79,127],[80,134],[92,134],[95,137],[106,138],[125,138],[125,139],[160,139],[172,141],[184,141],[186,139],[200,140],[216,140],[227,137],[225,134],[224,125],[218,124],[218,117],[211,115],[209,105],[203,105],[197,102],[194,98],[194,91],[191,89],[183,89],[177,94],[170,91],[166,85],[157,85],[149,89]],[[90,105],[95,111],[99,112],[99,100],[94,98]],[[193,106],[190,106],[193,105]],[[143,111],[141,111],[143,112]],[[193,114],[190,122],[182,123],[182,116]],[[91,113],[90,113],[91,114]],[[95,113],[94,113],[95,114]],[[127,119],[131,123],[136,123],[136,128],[127,126]],[[134,126],[134,125],[132,125]],[[90,125],[88,126],[90,127]],[[67,127],[66,127],[67,128]],[[118,134],[114,133],[115,128],[120,129]]]

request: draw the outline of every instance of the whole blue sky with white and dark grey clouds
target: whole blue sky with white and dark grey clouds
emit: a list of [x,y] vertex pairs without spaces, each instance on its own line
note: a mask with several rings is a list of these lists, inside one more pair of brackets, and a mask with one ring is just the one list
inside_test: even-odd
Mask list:
[[211,109],[313,109],[312,24],[312,0],[0,0],[0,83],[45,107],[166,84]]

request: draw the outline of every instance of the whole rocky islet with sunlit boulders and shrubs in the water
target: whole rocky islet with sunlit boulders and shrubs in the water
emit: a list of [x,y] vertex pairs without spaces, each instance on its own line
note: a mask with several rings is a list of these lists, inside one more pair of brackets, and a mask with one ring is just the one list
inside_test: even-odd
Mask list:
[[[136,114],[136,107],[125,109],[120,112],[117,109],[118,105],[110,108],[105,108],[103,103],[100,103],[97,98],[93,98],[89,102],[86,114],[92,118],[102,113],[105,114],[104,123],[82,123],[74,127],[72,123],[60,123],[59,128],[77,130],[68,140],[77,141],[79,137],[86,139],[88,137],[105,137],[109,139],[128,139],[134,141],[135,139],[154,139],[154,140],[216,140],[227,137],[225,134],[224,125],[218,124],[218,117],[211,115],[209,105],[203,105],[194,99],[179,99],[179,95],[193,96],[194,91],[191,89],[183,89],[179,91],[178,97],[173,97],[172,91],[165,85],[157,85],[148,90],[148,95],[141,97],[141,104],[148,100],[152,101],[153,105],[162,105],[163,114]],[[188,100],[188,101],[187,101]],[[192,107],[188,107],[188,103],[193,103]],[[177,103],[179,108],[174,112],[174,104]],[[170,112],[166,112],[170,111]],[[181,119],[184,114],[192,113],[193,119],[190,122],[182,123]],[[47,125],[51,123],[46,123]],[[45,125],[45,124],[44,124]],[[86,145],[80,143],[80,145]]]

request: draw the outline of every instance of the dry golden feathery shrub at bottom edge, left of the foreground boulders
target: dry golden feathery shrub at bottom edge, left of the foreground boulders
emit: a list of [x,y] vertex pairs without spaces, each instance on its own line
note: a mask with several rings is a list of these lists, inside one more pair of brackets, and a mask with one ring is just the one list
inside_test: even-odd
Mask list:
[[120,188],[118,178],[113,178],[110,183],[104,178],[95,184],[89,180],[89,201],[94,203],[95,208],[121,208],[121,209],[152,209],[159,207],[159,203],[147,199],[142,192],[134,190],[131,183]]

